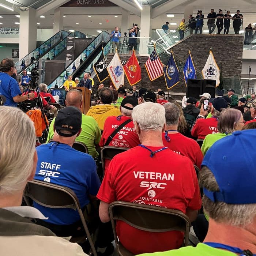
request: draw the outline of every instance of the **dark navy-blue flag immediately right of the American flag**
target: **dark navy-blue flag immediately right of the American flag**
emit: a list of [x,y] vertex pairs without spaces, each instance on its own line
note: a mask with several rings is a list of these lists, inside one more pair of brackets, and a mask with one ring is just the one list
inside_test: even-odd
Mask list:
[[163,76],[165,77],[165,83],[168,90],[180,82],[179,69],[176,65],[173,52],[167,65],[163,68]]

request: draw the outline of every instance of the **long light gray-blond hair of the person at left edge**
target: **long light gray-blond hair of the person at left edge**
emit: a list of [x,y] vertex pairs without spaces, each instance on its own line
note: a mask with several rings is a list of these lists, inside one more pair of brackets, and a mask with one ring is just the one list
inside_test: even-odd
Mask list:
[[35,128],[18,108],[0,107],[0,195],[22,190],[33,168]]

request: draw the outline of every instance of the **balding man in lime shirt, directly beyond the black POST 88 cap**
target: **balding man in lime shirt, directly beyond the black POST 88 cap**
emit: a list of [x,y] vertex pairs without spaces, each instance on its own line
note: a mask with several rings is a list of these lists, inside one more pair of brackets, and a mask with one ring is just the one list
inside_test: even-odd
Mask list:
[[[74,106],[78,108],[80,111],[82,110],[83,100],[82,100],[82,92],[77,89],[69,90],[65,99],[66,106]],[[49,127],[49,133],[47,142],[52,139],[54,131],[53,125],[54,120]],[[76,141],[83,142],[86,144],[89,154],[92,157],[97,157],[99,154],[96,150],[98,147],[99,141],[101,139],[101,131],[97,122],[94,120],[93,117],[86,116],[82,114],[82,132],[78,137],[76,137]]]

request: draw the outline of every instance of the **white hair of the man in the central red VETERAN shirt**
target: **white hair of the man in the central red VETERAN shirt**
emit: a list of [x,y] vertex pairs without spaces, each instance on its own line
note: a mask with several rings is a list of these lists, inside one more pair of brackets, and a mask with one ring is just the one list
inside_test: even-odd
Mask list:
[[158,103],[145,102],[133,108],[132,120],[143,131],[162,130],[165,125],[165,108]]

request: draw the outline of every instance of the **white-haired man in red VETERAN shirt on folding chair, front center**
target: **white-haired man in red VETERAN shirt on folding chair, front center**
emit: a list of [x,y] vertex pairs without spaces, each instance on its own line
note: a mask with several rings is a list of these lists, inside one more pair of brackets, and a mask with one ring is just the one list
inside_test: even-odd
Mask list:
[[[201,207],[196,172],[191,160],[163,146],[165,109],[145,102],[133,108],[132,120],[141,144],[110,162],[97,194],[101,221],[110,221],[109,204],[117,200],[180,210],[195,220]],[[180,231],[151,233],[120,221],[116,229],[120,243],[135,255],[179,248],[184,239]]]

